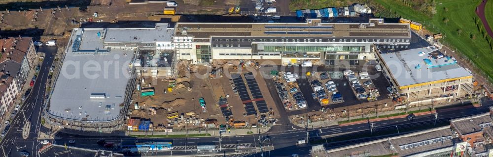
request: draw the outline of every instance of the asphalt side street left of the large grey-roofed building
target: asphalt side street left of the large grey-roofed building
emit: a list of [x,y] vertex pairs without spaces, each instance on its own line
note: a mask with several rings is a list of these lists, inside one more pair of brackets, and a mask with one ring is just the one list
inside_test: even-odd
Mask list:
[[[32,157],[37,157],[35,150],[39,147],[37,141],[37,132],[41,128],[41,107],[44,104],[46,81],[48,80],[49,69],[57,52],[57,47],[39,47],[38,52],[45,52],[43,62],[40,64],[39,74],[36,78],[35,85],[32,87],[31,94],[26,98],[24,105],[20,110],[24,111],[27,121],[31,122],[29,138],[22,138],[22,127],[25,124],[25,118],[21,111],[17,112],[10,129],[1,139],[2,157],[20,157],[18,151],[26,150],[31,153]],[[29,81],[28,81],[29,83]]]

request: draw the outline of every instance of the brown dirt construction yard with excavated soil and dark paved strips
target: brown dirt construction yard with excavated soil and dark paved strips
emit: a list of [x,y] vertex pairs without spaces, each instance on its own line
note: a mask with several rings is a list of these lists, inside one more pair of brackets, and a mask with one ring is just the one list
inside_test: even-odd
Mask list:
[[[272,108],[275,104],[265,81],[253,75],[260,75],[255,64],[248,65],[232,60],[211,67],[182,60],[177,63],[176,78],[142,75],[136,80],[135,104],[130,107],[129,118],[139,119],[140,123],[150,121],[149,130],[153,131],[170,131],[170,127],[175,131],[216,129],[221,124],[245,128],[275,123],[278,114]],[[140,125],[133,123],[129,123],[129,128]]]

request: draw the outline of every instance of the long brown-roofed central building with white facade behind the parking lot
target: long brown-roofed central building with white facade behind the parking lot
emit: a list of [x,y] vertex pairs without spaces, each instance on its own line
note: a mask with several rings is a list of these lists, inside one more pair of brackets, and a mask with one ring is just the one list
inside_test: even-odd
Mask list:
[[368,23],[177,23],[179,59],[281,59],[282,64],[319,60],[327,65],[362,65],[375,60],[372,45],[409,45],[406,24]]

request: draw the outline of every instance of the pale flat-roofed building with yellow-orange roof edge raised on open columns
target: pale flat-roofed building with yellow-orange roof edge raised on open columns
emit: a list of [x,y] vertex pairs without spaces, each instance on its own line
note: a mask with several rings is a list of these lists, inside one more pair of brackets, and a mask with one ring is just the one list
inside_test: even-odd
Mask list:
[[472,74],[434,46],[376,53],[394,89],[410,101],[457,98],[472,92]]

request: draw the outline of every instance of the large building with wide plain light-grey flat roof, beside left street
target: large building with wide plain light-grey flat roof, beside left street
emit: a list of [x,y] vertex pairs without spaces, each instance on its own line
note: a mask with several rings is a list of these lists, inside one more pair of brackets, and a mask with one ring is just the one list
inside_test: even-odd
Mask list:
[[135,87],[136,67],[146,66],[136,62],[144,55],[140,50],[152,50],[159,58],[162,52],[172,50],[173,31],[168,24],[154,28],[74,28],[49,97],[47,122],[70,124],[65,128],[72,129],[105,126],[100,131],[123,125]]

